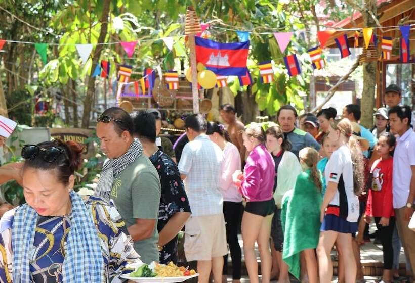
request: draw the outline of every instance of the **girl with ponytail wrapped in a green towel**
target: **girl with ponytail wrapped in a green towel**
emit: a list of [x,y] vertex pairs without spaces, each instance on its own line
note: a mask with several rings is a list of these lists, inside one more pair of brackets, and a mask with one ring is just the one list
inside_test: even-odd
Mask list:
[[320,234],[320,206],[322,203],[321,173],[317,169],[318,152],[304,148],[299,153],[304,171],[296,178],[294,190],[282,199],[281,221],[284,230],[282,259],[289,273],[300,278],[300,252],[304,252],[308,280],[317,283],[315,248]]

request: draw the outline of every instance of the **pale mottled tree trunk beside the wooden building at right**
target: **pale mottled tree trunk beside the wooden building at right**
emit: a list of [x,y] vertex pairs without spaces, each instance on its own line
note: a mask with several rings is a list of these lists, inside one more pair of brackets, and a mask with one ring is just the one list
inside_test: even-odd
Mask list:
[[[361,11],[364,19],[364,26],[376,27],[373,16],[378,15],[376,0],[366,0],[364,10]],[[375,31],[374,31],[375,32]],[[373,125],[373,109],[375,107],[376,69],[377,62],[363,63],[363,91],[360,109],[362,117],[360,122],[366,128]]]

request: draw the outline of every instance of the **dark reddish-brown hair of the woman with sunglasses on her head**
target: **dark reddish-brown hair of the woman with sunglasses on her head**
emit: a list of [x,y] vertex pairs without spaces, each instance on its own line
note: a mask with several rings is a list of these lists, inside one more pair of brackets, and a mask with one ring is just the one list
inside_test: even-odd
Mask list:
[[26,160],[23,170],[27,168],[33,168],[38,170],[56,170],[56,177],[60,183],[67,185],[70,175],[79,169],[82,164],[81,154],[84,151],[84,145],[80,145],[75,141],[68,140],[63,143],[60,139],[54,139],[52,141],[44,141],[37,144],[40,150],[47,150],[51,147],[58,147],[64,150],[64,154],[60,154],[53,162],[47,162],[42,156],[42,152],[33,159]]

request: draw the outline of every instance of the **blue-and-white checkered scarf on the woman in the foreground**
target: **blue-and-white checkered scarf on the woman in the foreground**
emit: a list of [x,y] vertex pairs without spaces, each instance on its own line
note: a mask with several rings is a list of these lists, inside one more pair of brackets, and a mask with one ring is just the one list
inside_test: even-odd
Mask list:
[[[62,264],[63,282],[101,282],[104,259],[91,211],[75,192],[69,193],[72,202],[71,227],[66,241],[66,256]],[[27,204],[16,211],[12,226],[13,282],[27,283],[29,263],[34,258],[34,234],[37,212]]]

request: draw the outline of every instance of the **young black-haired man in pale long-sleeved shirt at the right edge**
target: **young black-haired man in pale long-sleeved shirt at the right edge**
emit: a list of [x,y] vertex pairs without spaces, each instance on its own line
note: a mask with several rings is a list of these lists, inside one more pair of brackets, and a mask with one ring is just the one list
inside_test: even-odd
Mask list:
[[408,228],[415,200],[415,132],[410,124],[409,106],[395,106],[389,110],[391,132],[399,135],[393,155],[393,207],[399,237],[415,271],[415,232]]

